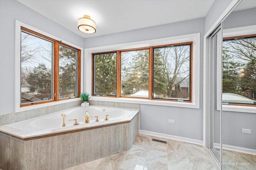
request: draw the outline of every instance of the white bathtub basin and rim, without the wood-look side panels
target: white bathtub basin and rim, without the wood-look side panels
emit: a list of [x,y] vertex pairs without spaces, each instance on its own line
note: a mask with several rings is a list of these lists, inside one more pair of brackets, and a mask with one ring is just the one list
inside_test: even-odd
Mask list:
[[[84,123],[85,112],[88,111],[89,123]],[[60,114],[66,115],[66,126],[62,127],[63,117]],[[21,138],[28,139],[32,137],[40,137],[44,135],[51,135],[56,133],[64,133],[69,131],[76,131],[81,129],[91,129],[95,127],[102,127],[116,123],[123,123],[131,121],[138,113],[136,109],[126,109],[118,107],[106,106],[89,106],[89,107],[72,107],[62,111],[50,113],[47,115],[34,117],[24,121],[4,125],[0,127],[0,132]],[[108,115],[108,120],[104,118]],[[98,116],[99,121],[95,122]],[[70,119],[77,119],[79,125],[74,125],[74,121]]]

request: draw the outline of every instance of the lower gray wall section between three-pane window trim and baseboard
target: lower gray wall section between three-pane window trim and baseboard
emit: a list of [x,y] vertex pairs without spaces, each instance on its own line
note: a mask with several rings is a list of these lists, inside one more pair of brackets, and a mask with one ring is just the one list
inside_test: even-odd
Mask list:
[[[175,123],[168,123],[174,119]],[[202,140],[201,109],[140,105],[140,130]]]

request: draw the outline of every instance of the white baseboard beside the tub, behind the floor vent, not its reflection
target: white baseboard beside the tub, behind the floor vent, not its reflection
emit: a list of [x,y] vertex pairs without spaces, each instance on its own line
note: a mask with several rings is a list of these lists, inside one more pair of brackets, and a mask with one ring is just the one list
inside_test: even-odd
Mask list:
[[200,141],[200,140],[197,140],[197,139],[179,137],[179,136],[174,136],[174,135],[167,135],[167,134],[164,134],[164,133],[157,133],[157,132],[144,131],[144,130],[139,130],[139,133],[144,134],[144,135],[151,135],[151,136],[155,136],[155,137],[162,137],[162,138],[166,138],[166,139],[172,139],[172,140],[176,140],[176,141],[193,143],[193,144],[196,144],[196,145],[203,145],[203,141]]

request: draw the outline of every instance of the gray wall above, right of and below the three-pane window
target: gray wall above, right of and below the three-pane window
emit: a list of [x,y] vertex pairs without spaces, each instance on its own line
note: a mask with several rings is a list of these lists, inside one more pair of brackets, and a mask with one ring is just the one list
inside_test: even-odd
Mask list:
[[[203,36],[204,18],[171,23],[126,31],[111,35],[87,38],[84,47],[100,47],[120,43],[144,41],[173,37],[191,33],[201,33],[200,36],[200,69],[203,70]],[[203,73],[200,73],[200,86],[203,83]],[[203,98],[203,88],[200,90],[200,99]],[[191,139],[203,140],[203,100],[200,100],[200,109],[182,107],[140,105],[140,129],[168,135],[176,135]],[[168,123],[174,119],[175,124]]]

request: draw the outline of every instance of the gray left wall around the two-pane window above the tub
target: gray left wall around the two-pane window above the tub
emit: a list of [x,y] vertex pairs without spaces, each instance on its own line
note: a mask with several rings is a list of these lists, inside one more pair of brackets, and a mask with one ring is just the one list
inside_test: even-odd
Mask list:
[[0,114],[14,112],[15,20],[55,35],[79,47],[84,39],[16,0],[0,0]]

